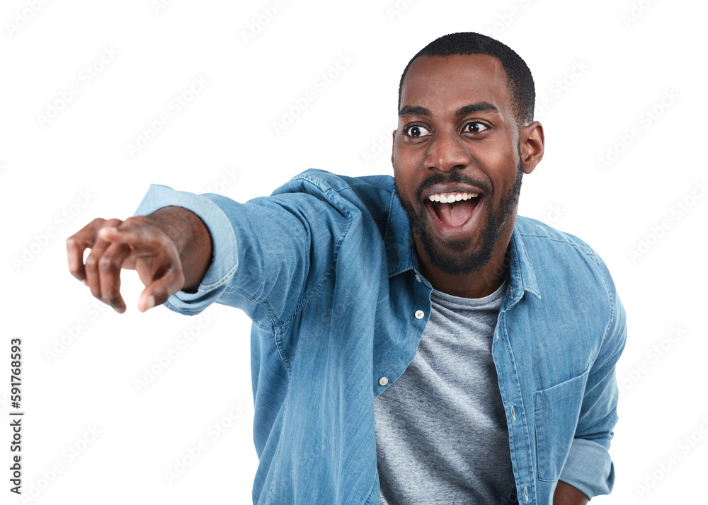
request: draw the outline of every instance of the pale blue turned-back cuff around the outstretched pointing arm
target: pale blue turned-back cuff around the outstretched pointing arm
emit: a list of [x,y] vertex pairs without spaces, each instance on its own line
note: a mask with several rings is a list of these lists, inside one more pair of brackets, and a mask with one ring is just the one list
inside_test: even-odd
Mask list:
[[[235,202],[234,202],[235,203]],[[212,261],[196,293],[178,291],[164,303],[175,312],[195,315],[217,301],[239,266],[236,235],[224,211],[209,198],[152,184],[134,216],[147,216],[162,207],[183,207],[197,214],[212,238]]]

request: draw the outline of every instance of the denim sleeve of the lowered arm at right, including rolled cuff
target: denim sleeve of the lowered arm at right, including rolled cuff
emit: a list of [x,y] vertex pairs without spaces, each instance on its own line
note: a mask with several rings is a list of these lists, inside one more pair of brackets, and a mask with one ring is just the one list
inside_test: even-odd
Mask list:
[[608,451],[617,424],[615,365],[627,339],[627,323],[611,280],[610,286],[610,322],[588,375],[575,438],[559,478],[589,498],[609,494],[615,483],[615,465]]

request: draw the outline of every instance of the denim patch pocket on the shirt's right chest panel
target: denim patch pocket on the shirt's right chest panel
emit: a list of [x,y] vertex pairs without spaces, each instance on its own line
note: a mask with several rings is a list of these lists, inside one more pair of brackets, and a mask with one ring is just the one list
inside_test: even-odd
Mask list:
[[554,482],[561,476],[578,425],[588,373],[589,366],[581,375],[533,394],[539,480]]

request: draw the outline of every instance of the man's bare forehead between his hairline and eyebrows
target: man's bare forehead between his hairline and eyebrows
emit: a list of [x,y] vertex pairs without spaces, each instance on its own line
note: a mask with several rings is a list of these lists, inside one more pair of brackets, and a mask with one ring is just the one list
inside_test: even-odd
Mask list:
[[496,105],[503,115],[512,110],[506,71],[489,54],[418,57],[401,87],[401,107],[447,112],[480,102]]

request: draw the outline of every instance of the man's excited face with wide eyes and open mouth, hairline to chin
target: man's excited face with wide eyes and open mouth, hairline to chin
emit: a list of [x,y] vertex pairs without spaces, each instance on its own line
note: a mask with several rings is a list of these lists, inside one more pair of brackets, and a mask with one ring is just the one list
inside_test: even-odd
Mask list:
[[523,174],[501,62],[486,54],[414,60],[391,161],[418,254],[422,245],[446,274],[484,267],[500,236],[510,238]]

